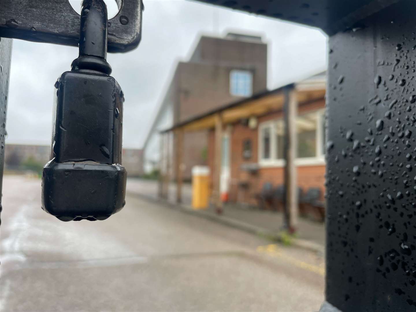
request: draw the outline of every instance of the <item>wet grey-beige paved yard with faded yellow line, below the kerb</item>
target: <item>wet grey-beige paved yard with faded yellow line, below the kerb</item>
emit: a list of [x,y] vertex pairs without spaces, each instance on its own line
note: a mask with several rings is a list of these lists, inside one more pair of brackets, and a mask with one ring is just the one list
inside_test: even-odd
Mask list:
[[40,208],[40,180],[5,176],[1,311],[317,311],[324,259],[127,197],[104,221]]

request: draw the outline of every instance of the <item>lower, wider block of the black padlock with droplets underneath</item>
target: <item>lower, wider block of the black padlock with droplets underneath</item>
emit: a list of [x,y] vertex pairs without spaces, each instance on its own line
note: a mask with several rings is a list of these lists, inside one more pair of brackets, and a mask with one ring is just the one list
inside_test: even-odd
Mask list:
[[126,168],[94,161],[50,161],[43,168],[42,209],[59,220],[105,220],[124,207]]

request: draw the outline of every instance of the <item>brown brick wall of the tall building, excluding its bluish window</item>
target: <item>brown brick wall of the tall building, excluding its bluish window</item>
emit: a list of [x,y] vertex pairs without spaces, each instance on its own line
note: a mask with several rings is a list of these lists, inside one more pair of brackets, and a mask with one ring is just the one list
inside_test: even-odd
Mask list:
[[[230,71],[253,73],[253,93],[267,89],[267,44],[202,36],[189,62],[179,62],[162,107],[173,107],[173,123],[241,99],[230,94]],[[194,165],[206,164],[207,134],[184,136],[183,177],[191,178]],[[173,157],[174,158],[174,157]]]

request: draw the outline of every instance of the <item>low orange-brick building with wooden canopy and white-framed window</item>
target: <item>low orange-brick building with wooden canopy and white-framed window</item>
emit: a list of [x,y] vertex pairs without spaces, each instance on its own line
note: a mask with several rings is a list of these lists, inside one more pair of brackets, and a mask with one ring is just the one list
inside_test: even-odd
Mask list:
[[[293,123],[295,181],[303,193],[311,188],[320,190],[318,200],[325,193],[325,84],[322,73],[290,85],[295,99],[290,105],[297,110]],[[179,136],[207,129],[212,190],[217,183],[223,200],[256,204],[256,195],[266,183],[273,188],[284,184],[285,88],[231,102],[162,133],[175,132]]]

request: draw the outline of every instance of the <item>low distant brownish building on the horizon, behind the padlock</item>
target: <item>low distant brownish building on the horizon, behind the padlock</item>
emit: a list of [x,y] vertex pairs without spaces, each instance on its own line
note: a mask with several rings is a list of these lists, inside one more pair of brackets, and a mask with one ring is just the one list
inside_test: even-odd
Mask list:
[[[50,158],[49,145],[6,144],[5,169],[22,170],[27,165],[33,168],[45,165]],[[143,175],[143,151],[141,149],[123,149],[122,164],[130,177]]]

